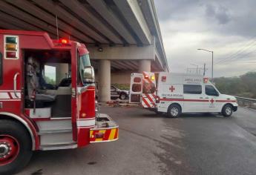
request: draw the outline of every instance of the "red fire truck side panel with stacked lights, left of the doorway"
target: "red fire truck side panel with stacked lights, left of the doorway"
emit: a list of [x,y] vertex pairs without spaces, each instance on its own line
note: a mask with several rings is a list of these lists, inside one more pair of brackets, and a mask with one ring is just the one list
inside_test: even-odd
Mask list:
[[[4,39],[2,41],[1,39]],[[5,35],[0,39],[1,85],[0,111],[22,112],[22,54],[19,53],[19,36]],[[1,44],[0,44],[1,45]]]

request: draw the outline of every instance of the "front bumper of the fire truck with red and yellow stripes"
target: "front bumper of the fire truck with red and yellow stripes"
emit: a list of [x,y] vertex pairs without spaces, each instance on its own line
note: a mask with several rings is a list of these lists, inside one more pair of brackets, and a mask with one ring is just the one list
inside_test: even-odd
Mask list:
[[119,126],[110,116],[99,113],[96,118],[96,126],[90,129],[90,142],[112,142],[118,139]]

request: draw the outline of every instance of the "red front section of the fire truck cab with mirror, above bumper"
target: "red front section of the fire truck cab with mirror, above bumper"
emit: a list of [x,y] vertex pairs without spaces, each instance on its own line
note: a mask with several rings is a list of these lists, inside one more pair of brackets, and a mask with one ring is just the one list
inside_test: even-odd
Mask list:
[[79,47],[78,72],[76,129],[77,145],[81,147],[89,144],[90,128],[96,122],[94,70],[85,47]]

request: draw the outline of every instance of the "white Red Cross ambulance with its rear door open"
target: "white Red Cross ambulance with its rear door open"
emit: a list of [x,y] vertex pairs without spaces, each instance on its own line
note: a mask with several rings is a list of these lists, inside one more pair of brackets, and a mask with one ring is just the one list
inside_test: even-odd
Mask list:
[[221,113],[231,116],[237,99],[220,93],[205,78],[188,73],[131,73],[130,103],[178,117],[180,113]]

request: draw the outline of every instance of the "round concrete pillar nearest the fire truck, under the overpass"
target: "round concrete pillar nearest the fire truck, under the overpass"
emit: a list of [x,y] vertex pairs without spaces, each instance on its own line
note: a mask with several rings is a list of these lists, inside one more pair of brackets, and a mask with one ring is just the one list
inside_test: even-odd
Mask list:
[[98,100],[99,102],[108,102],[111,100],[111,61],[99,60],[99,84]]

